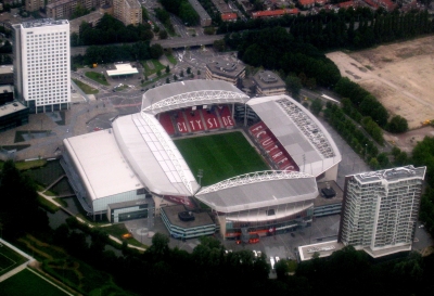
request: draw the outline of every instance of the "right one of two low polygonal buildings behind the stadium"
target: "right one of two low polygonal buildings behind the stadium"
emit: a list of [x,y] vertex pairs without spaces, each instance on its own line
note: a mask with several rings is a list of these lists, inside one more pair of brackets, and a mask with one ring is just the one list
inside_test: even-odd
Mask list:
[[259,95],[277,95],[286,92],[285,82],[270,70],[259,70],[253,76],[256,93]]

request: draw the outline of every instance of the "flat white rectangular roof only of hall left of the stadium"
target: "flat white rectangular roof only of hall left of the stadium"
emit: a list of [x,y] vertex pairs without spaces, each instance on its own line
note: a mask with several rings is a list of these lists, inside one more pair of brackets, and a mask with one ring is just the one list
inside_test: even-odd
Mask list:
[[63,143],[92,201],[143,188],[112,129],[67,138]]

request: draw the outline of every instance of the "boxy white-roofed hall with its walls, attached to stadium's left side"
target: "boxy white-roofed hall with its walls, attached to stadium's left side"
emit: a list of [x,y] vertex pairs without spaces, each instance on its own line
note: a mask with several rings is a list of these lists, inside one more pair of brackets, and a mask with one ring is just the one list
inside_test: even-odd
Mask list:
[[127,165],[112,129],[67,138],[63,144],[66,175],[88,213],[106,214],[108,204],[145,198],[143,183]]

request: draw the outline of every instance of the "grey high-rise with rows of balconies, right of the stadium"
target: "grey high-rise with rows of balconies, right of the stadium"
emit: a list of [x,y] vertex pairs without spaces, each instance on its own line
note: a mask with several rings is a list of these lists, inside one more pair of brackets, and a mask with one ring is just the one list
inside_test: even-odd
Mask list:
[[410,250],[425,167],[347,176],[339,241],[372,257]]

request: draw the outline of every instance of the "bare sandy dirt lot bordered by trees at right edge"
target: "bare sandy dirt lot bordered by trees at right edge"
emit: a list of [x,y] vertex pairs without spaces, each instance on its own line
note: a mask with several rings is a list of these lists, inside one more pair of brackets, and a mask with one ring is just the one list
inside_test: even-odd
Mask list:
[[433,36],[327,56],[343,76],[370,91],[392,115],[407,118],[410,129],[434,119]]

